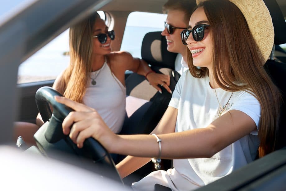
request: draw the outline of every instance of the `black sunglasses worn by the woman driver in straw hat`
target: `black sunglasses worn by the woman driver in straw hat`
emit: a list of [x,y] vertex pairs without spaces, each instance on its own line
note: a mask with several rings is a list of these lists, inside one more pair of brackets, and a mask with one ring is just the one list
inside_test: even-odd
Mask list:
[[192,36],[195,41],[201,41],[205,35],[205,28],[210,27],[210,25],[196,25],[191,30],[185,29],[181,32],[182,42],[184,45],[187,45],[187,39],[192,33]]

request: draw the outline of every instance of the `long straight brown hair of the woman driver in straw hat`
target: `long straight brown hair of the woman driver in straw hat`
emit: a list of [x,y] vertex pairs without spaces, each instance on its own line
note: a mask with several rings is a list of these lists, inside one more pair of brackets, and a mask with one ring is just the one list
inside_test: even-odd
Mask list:
[[[203,7],[210,22],[215,81],[226,91],[248,91],[260,103],[258,152],[262,157],[275,147],[281,94],[263,68],[265,61],[238,7],[227,0],[204,1],[198,7]],[[187,55],[189,69],[194,77],[208,75],[207,68],[198,69],[192,64],[189,51]]]

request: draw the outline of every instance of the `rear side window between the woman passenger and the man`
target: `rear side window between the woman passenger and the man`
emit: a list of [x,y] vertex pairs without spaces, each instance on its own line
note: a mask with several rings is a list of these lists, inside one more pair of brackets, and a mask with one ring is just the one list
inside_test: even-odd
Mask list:
[[166,14],[131,12],[128,15],[120,50],[141,58],[141,45],[147,32],[163,31]]

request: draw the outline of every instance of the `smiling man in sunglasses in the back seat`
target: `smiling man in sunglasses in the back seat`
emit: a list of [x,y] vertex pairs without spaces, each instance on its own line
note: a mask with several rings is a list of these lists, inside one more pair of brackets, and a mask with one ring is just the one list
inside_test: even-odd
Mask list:
[[175,60],[175,70],[181,75],[189,68],[186,45],[182,43],[180,33],[187,29],[191,12],[195,6],[195,2],[189,0],[169,0],[163,6],[163,11],[168,16],[165,21],[165,29],[161,34],[166,37],[167,50],[178,53]]

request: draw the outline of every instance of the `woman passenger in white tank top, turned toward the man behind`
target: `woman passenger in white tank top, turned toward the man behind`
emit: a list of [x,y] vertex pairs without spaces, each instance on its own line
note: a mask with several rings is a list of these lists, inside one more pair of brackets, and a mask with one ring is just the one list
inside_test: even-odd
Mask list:
[[[112,52],[110,44],[114,38],[114,31],[108,31],[98,13],[71,27],[71,62],[53,88],[71,100],[95,108],[108,127],[118,133],[125,117],[126,70],[144,75],[159,92],[161,86],[172,91],[168,87],[169,75],[153,72],[144,60],[133,58],[128,52]],[[21,135],[26,143],[35,144],[33,135],[43,123],[40,115],[37,125],[15,122],[15,138]]]

